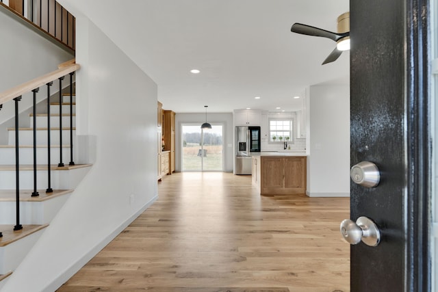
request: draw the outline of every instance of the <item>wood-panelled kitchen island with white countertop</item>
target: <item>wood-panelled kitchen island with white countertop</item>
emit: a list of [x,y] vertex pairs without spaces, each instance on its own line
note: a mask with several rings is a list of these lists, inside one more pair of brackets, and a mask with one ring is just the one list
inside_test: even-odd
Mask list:
[[253,156],[253,185],[261,195],[305,194],[306,167],[303,153],[261,152]]

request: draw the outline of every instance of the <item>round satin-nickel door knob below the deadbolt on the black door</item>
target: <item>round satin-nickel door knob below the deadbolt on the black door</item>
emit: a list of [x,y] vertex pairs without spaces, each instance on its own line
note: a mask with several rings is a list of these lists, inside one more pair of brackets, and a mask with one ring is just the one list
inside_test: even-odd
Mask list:
[[356,222],[346,219],[341,222],[341,234],[350,244],[361,241],[366,245],[377,246],[381,241],[381,233],[376,224],[368,217],[359,217]]

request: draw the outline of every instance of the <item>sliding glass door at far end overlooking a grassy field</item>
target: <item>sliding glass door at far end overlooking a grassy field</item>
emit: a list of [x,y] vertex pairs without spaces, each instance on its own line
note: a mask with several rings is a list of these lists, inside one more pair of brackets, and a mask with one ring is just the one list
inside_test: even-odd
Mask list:
[[223,171],[223,127],[213,124],[202,130],[199,124],[181,126],[181,170]]

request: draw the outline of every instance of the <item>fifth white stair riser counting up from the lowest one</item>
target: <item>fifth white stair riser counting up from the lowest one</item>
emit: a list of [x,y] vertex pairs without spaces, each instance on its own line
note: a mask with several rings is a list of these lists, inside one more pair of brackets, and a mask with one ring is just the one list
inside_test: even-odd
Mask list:
[[[47,131],[36,131],[36,144],[47,145]],[[51,144],[60,144],[60,130],[51,130]],[[9,131],[8,145],[15,144],[15,131]],[[76,131],[73,130],[73,138],[76,135]],[[33,131],[20,131],[18,135],[18,142],[20,145],[33,145],[34,144],[34,132]],[[62,144],[70,144],[70,130],[62,130]]]

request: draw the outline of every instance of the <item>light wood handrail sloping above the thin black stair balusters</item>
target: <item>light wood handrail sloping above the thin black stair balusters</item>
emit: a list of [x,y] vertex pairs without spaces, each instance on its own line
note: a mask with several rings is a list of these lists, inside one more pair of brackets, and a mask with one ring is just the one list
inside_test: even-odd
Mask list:
[[57,69],[53,72],[47,73],[46,75],[32,79],[31,81],[27,81],[21,85],[17,85],[14,88],[1,92],[0,105],[3,105],[8,101],[12,101],[12,99],[18,96],[21,96],[27,92],[31,92],[35,88],[46,85],[47,83],[63,77],[71,72],[75,72],[76,70],[79,70],[79,68],[81,68],[79,64],[67,64],[63,68]]

